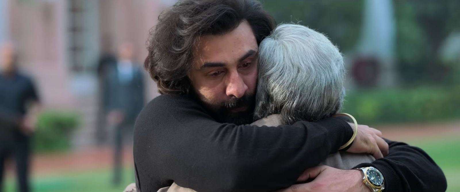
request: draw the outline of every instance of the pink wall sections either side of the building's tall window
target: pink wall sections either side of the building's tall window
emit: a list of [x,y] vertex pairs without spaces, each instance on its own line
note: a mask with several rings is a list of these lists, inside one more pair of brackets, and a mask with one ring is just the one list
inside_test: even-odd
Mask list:
[[[9,34],[19,47],[20,64],[33,76],[43,103],[52,108],[75,106],[70,90],[72,71],[68,64],[68,0],[9,1]],[[156,0],[99,0],[99,39],[117,44],[132,41],[135,58],[143,64],[145,42],[164,6]],[[101,43],[102,45],[102,43]],[[147,99],[157,93],[155,83],[146,74]]]

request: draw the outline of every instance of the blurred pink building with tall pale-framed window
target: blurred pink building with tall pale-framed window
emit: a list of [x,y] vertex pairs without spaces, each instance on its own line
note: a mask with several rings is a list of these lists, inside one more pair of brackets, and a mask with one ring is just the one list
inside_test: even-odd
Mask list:
[[[0,41],[12,40],[19,63],[37,81],[46,108],[77,111],[83,126],[77,147],[94,137],[96,65],[103,52],[131,41],[143,63],[145,42],[158,14],[175,0],[0,0]],[[146,76],[148,77],[148,76]],[[146,99],[156,87],[146,78]]]

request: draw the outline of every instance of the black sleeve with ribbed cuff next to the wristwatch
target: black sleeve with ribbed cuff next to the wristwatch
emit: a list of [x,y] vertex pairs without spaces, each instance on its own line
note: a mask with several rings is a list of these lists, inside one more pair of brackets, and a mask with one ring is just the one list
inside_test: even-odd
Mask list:
[[385,141],[390,149],[388,156],[356,166],[379,169],[385,178],[384,192],[446,191],[443,171],[425,151],[402,142]]

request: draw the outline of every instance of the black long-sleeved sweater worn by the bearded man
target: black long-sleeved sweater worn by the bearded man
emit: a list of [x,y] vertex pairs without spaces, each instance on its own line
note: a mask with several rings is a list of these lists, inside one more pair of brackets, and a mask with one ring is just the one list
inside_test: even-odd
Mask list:
[[[293,185],[352,135],[347,122],[328,118],[292,126],[216,122],[185,96],[164,94],[138,116],[134,166],[138,189],[156,192],[176,182],[198,192],[270,191]],[[388,141],[390,154],[373,163],[385,192],[442,192],[442,170],[421,149]]]

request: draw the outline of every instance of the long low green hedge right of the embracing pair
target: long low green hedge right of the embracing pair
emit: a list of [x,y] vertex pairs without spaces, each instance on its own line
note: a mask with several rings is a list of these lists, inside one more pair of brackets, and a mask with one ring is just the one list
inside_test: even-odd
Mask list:
[[342,112],[362,124],[460,118],[460,85],[349,91]]

